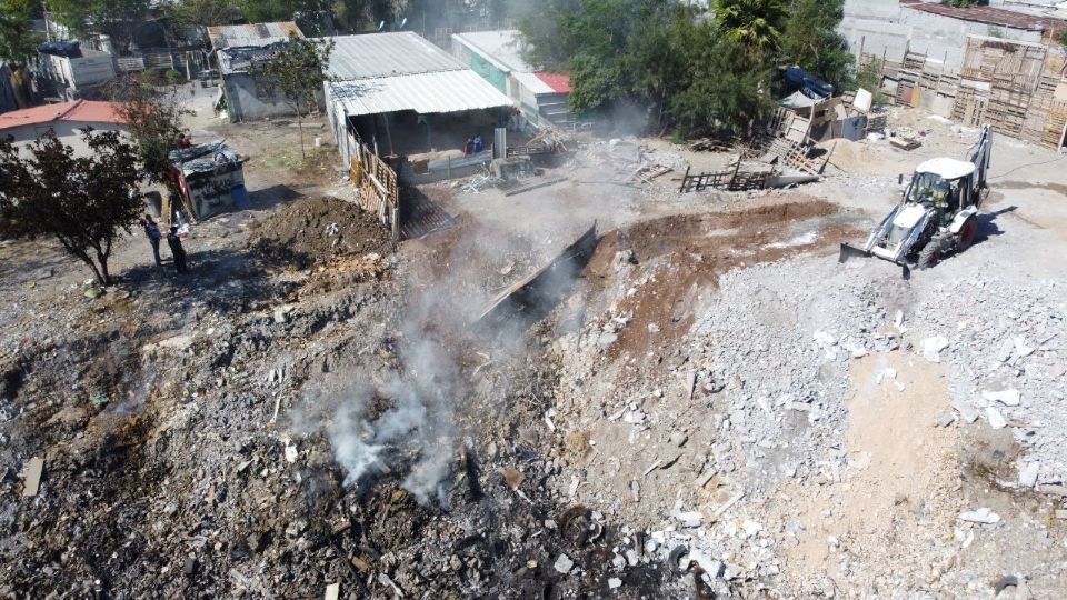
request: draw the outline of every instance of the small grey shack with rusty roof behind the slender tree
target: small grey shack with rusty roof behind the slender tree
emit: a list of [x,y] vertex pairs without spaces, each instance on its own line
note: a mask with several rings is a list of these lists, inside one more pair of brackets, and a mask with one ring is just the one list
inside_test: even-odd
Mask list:
[[253,71],[283,50],[290,36],[303,37],[292,21],[209,27],[231,122],[292,114],[280,93],[257,84]]

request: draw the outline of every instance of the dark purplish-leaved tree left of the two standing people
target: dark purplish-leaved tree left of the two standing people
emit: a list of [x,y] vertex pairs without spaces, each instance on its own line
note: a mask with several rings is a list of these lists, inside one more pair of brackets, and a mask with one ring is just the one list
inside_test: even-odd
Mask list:
[[52,131],[27,157],[12,138],[0,140],[0,210],[14,232],[54,237],[108,286],[114,241],[144,210],[128,191],[138,179],[137,156],[114,131],[87,130],[83,139],[89,157],[76,157]]

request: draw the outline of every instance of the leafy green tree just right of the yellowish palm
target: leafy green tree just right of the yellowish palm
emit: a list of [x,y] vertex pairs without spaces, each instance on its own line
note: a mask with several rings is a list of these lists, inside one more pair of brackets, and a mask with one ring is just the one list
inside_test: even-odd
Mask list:
[[855,59],[837,32],[845,0],[794,0],[781,32],[780,60],[847,87]]

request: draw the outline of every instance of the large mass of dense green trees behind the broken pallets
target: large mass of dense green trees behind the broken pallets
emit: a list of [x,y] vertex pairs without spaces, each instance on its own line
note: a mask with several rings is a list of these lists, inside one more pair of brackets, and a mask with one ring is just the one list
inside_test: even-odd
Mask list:
[[570,73],[571,109],[650,109],[682,133],[744,132],[771,106],[779,68],[842,83],[852,58],[835,32],[841,0],[545,0],[519,20],[537,67]]

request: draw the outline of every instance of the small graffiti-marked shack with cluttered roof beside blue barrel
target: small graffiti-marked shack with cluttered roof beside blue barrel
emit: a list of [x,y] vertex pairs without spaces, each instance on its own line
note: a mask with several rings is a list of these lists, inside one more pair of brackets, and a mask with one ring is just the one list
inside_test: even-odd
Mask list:
[[[245,160],[221,140],[172,150],[172,177],[186,212],[202,220],[233,206],[245,208]],[[168,212],[163,211],[164,218]]]

